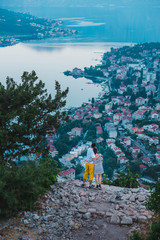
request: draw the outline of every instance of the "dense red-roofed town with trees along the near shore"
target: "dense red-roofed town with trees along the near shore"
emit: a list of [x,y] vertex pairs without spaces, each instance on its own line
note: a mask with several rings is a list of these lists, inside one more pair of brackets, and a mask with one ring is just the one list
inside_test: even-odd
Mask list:
[[[160,174],[160,44],[112,48],[101,64],[74,68],[65,74],[88,77],[103,91],[79,108],[69,109],[70,120],[47,136],[50,153],[62,166],[82,177],[91,142],[103,154],[104,171],[115,179],[126,168],[138,173],[142,187]],[[76,81],[76,80],[75,80]],[[74,174],[64,171],[62,176]]]

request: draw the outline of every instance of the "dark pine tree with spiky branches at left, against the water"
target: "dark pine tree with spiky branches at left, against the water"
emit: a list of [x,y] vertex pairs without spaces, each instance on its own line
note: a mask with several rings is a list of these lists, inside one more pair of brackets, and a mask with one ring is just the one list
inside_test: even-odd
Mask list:
[[6,86],[0,83],[0,161],[35,152],[48,152],[44,145],[46,131],[58,128],[67,120],[61,111],[65,106],[68,89],[61,92],[55,83],[56,94],[52,99],[45,84],[36,73],[24,72],[20,84],[7,77]]

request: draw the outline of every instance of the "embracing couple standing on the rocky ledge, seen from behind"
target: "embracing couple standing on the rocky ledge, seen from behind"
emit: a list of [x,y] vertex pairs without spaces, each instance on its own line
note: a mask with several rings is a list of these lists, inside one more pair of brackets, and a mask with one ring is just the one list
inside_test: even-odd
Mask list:
[[92,181],[95,175],[96,188],[101,189],[102,173],[104,173],[102,162],[102,154],[97,154],[96,143],[92,143],[91,147],[87,151],[82,187],[85,186],[85,182],[89,175],[89,188],[93,188],[94,185],[92,184]]

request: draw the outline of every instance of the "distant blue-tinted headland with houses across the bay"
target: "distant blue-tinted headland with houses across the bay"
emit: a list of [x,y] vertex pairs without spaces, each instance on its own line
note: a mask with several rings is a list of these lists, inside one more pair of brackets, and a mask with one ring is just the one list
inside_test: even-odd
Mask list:
[[26,40],[65,37],[76,34],[73,29],[60,28],[62,21],[37,18],[0,8],[0,47]]

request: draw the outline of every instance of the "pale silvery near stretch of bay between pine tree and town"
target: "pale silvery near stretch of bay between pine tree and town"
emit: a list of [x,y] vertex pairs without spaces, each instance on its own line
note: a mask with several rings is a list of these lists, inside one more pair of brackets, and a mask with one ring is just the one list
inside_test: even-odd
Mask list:
[[97,97],[102,90],[98,84],[85,78],[74,79],[63,74],[65,70],[72,70],[75,66],[85,66],[100,63],[103,52],[110,46],[121,44],[67,44],[32,42],[0,48],[0,81],[5,84],[7,76],[17,82],[23,71],[35,70],[39,79],[46,84],[48,92],[54,95],[55,80],[62,89],[69,87],[67,106],[80,106],[92,97]]

